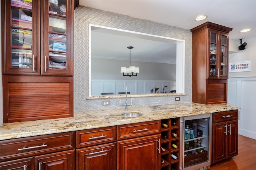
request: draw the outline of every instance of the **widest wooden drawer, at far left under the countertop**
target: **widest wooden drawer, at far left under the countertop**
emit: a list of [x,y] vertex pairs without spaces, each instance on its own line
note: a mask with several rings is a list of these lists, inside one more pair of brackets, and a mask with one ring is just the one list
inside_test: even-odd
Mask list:
[[75,133],[56,133],[0,141],[0,162],[75,148]]

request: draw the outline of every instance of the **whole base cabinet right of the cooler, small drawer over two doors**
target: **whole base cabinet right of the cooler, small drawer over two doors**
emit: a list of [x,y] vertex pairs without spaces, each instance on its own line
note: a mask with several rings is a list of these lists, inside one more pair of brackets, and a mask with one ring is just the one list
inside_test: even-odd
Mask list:
[[213,113],[212,163],[238,154],[238,110]]

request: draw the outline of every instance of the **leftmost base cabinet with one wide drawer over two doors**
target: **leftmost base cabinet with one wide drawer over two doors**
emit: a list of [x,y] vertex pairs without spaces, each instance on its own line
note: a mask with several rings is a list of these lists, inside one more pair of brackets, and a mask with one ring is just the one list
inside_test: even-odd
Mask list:
[[0,141],[0,170],[74,170],[74,153],[74,132]]

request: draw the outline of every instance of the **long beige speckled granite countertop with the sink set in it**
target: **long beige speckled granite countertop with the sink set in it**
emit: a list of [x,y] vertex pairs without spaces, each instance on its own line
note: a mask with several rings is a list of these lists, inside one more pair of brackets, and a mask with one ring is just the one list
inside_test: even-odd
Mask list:
[[74,117],[4,123],[0,125],[0,140],[170,119],[174,117],[200,115],[236,109],[240,109],[240,107],[228,103],[210,105],[179,103],[128,107],[129,111],[139,111],[143,113],[142,116],[133,118],[121,115],[121,113],[124,112],[124,108],[76,111],[74,112]]

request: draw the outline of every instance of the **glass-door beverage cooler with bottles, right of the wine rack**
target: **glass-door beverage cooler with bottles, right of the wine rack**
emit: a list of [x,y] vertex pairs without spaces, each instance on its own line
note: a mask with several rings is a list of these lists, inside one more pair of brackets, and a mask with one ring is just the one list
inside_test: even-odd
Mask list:
[[210,169],[212,114],[180,118],[180,137],[180,170]]

